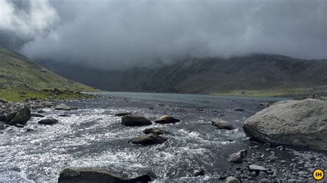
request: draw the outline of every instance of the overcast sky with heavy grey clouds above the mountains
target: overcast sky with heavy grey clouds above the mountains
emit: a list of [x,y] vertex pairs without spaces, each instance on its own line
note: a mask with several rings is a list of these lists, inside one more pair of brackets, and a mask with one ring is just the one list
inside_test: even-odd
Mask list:
[[0,0],[0,33],[31,58],[106,69],[253,52],[326,58],[326,3]]

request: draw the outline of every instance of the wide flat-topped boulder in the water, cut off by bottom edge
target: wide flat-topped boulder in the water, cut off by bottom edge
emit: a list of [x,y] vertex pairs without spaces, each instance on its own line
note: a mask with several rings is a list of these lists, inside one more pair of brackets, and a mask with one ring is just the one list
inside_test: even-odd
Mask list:
[[58,182],[150,182],[150,175],[127,177],[111,169],[95,167],[67,167],[59,175]]

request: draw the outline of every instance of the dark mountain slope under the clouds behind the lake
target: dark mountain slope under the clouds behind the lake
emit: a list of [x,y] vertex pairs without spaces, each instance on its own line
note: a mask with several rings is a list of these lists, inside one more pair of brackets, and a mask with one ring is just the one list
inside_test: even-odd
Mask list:
[[101,72],[76,65],[41,62],[72,80],[109,91],[210,94],[239,90],[327,86],[327,61],[251,54],[193,58],[158,68]]

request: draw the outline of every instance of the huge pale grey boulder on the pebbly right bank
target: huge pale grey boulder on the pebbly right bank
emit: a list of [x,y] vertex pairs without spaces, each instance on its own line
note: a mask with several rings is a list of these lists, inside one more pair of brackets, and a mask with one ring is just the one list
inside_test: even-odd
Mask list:
[[280,101],[248,118],[243,129],[262,142],[327,151],[327,102]]

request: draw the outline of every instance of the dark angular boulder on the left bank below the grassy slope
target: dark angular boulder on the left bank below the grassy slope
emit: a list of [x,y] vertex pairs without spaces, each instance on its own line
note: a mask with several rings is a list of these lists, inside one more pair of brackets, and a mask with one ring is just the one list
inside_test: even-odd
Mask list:
[[15,125],[17,123],[26,125],[28,120],[30,120],[30,109],[28,107],[21,107],[6,116],[6,123],[8,125]]

